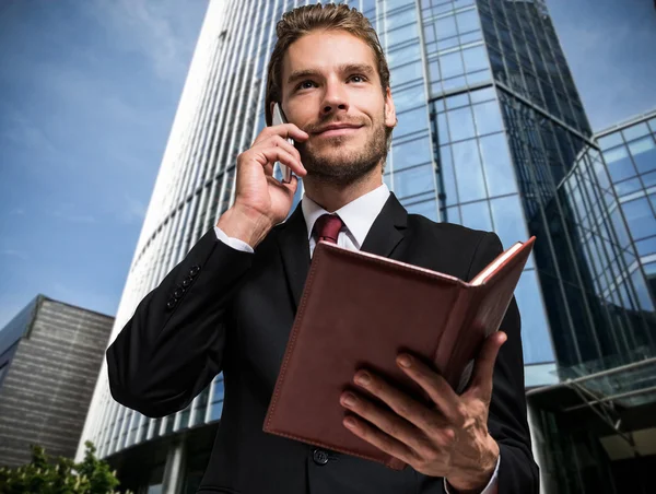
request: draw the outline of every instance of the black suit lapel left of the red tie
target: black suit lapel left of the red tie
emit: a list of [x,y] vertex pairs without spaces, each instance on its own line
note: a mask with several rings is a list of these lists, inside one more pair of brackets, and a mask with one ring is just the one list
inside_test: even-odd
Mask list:
[[290,219],[285,222],[284,228],[278,236],[282,264],[286,275],[288,285],[294,301],[294,308],[298,307],[305,279],[309,271],[309,242],[307,239],[307,226],[303,217],[301,202]]

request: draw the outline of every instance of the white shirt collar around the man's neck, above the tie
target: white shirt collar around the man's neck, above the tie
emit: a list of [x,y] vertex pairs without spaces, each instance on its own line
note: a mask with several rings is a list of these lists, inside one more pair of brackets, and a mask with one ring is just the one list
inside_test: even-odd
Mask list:
[[[389,189],[386,184],[382,184],[380,187],[359,197],[335,212],[344,222],[349,232],[351,232],[351,235],[358,243],[358,248],[362,247],[366,234],[374,224],[376,216],[378,216],[383,210],[388,198]],[[305,217],[305,226],[307,226],[307,237],[309,239],[315,222],[323,214],[327,214],[328,211],[308,198],[306,193],[303,195],[303,199],[301,200],[301,208],[303,210],[303,216]]]

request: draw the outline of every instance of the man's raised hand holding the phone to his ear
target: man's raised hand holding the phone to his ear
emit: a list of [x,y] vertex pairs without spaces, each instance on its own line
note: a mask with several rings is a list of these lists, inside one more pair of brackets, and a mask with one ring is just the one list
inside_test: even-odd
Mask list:
[[300,177],[307,174],[301,154],[286,142],[288,138],[305,141],[308,134],[294,124],[266,127],[250,149],[237,156],[235,203],[216,226],[253,248],[288,216],[298,187],[294,176],[290,184],[273,178],[273,164],[278,161]]

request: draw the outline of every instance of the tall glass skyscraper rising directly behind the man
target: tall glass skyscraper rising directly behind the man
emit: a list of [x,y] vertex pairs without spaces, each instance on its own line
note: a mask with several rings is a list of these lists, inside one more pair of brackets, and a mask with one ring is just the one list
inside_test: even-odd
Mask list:
[[[210,2],[112,340],[234,200],[236,156],[266,125],[276,23],[305,3]],[[635,348],[648,355],[653,299],[644,274],[632,274],[623,213],[609,213],[618,192],[544,2],[348,3],[387,55],[399,124],[384,180],[401,203],[494,231],[505,247],[538,237],[516,291],[527,388],[620,365]],[[194,492],[222,400],[219,375],[186,410],[149,419],[114,402],[104,365],[81,444],[93,440],[125,486]],[[548,474],[558,469],[550,454],[538,455]]]

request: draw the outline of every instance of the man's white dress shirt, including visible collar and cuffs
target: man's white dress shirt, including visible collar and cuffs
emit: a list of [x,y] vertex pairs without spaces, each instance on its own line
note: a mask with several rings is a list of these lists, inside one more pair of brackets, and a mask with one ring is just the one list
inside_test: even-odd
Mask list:
[[[359,197],[354,201],[349,202],[342,208],[335,211],[335,214],[339,215],[344,226],[340,230],[339,236],[337,237],[337,245],[351,250],[360,250],[368,231],[374,224],[374,220],[383,210],[385,202],[389,198],[389,189],[387,185],[383,184],[380,187]],[[309,199],[307,195],[303,195],[301,200],[301,209],[303,210],[303,216],[305,219],[305,226],[307,226],[307,237],[309,240],[309,256],[312,257],[314,248],[317,245],[315,235],[313,235],[313,228],[316,221],[323,214],[328,214],[324,208],[317,204],[315,201]],[[214,226],[216,237],[224,244],[233,247],[234,249],[253,252],[250,247],[245,242],[238,238],[229,237],[219,226]],[[496,492],[496,480],[499,477],[499,464],[501,462],[501,456],[496,459],[496,468],[492,474],[492,479],[488,486],[481,491],[481,494],[494,494]],[[444,483],[447,493],[450,493],[446,481]]]

